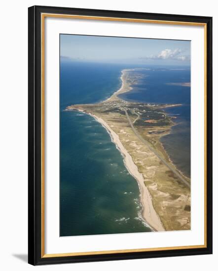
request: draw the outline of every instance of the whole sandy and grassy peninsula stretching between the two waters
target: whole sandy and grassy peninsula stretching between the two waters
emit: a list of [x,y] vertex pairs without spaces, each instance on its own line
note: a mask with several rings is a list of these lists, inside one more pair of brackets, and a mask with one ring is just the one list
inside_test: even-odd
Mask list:
[[123,69],[122,86],[109,99],[65,110],[89,114],[109,132],[138,182],[142,216],[153,231],[190,230],[190,179],[175,167],[159,140],[175,125],[175,117],[163,109],[181,104],[127,102],[120,97],[138,83],[141,69]]

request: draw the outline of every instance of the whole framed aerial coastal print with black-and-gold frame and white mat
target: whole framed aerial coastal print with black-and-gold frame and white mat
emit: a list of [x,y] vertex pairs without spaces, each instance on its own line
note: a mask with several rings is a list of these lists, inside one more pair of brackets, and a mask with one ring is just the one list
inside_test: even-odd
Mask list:
[[212,253],[212,18],[29,8],[29,263]]

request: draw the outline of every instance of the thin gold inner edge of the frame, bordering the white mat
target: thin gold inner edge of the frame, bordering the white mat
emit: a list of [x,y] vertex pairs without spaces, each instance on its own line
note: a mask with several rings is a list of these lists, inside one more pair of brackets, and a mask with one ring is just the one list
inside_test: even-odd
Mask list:
[[[122,250],[106,250],[106,251],[87,251],[87,252],[70,252],[45,254],[45,233],[44,233],[44,21],[45,17],[65,18],[65,19],[86,19],[100,21],[123,21],[133,23],[150,23],[150,24],[170,24],[184,26],[203,26],[204,27],[204,244],[189,246],[173,246],[173,247],[156,247],[156,248],[139,248],[139,249],[122,249]],[[55,13],[41,13],[41,258],[52,257],[68,257],[82,255],[100,255],[113,253],[130,253],[130,252],[148,252],[148,251],[164,251],[177,249],[194,249],[207,247],[207,24],[180,21],[162,21],[162,20],[146,20],[146,19],[130,19],[116,17],[101,16],[83,16],[68,15]]]

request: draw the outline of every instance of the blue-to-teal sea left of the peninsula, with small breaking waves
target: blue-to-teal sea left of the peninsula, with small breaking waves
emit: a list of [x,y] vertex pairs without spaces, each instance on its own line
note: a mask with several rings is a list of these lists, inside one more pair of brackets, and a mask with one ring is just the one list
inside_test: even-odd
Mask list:
[[[87,114],[63,111],[72,103],[104,100],[119,88],[122,67],[97,65],[94,80],[93,66],[66,66],[61,70],[60,236],[150,231],[141,219],[138,183],[105,128]],[[81,71],[90,80],[87,90]]]

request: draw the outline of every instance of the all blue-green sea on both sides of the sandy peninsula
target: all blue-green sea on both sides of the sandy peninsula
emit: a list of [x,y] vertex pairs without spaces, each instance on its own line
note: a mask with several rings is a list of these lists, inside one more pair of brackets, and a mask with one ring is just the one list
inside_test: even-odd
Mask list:
[[[60,66],[60,236],[150,232],[141,217],[137,181],[108,132],[91,116],[66,106],[109,98],[121,86],[121,70],[139,66],[61,62]],[[161,141],[175,165],[190,175],[190,70],[152,67],[128,101],[182,103],[166,109],[177,116]],[[158,80],[157,80],[158,78]],[[180,157],[178,157],[178,150]]]

